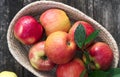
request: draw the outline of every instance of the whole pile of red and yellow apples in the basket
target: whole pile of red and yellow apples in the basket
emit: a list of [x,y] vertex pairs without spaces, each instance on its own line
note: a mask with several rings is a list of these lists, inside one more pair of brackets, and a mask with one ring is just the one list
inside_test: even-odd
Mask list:
[[[79,24],[84,27],[86,38],[95,31],[86,21],[71,24],[64,10],[48,9],[40,14],[39,19],[30,15],[18,19],[14,25],[14,35],[22,44],[32,45],[28,58],[36,70],[50,71],[56,68],[57,77],[80,77],[87,68],[86,57],[83,54],[83,58],[76,57],[77,52],[84,52],[74,38]],[[44,33],[46,37],[42,40]],[[110,68],[113,52],[109,45],[92,41],[86,46],[92,70]],[[84,77],[88,77],[87,72]]]

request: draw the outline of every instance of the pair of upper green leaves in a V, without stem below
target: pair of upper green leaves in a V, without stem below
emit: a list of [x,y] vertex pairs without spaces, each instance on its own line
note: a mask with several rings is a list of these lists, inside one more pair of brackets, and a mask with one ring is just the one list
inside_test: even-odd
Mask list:
[[82,49],[83,46],[86,46],[87,44],[92,42],[99,35],[99,32],[100,30],[95,30],[86,38],[85,29],[82,26],[82,24],[79,24],[74,34],[75,42],[78,45],[78,47]]

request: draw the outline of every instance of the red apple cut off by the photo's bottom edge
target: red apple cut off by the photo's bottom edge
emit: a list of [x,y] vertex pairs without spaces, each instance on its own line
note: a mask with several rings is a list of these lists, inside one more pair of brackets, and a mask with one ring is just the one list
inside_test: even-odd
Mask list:
[[[86,68],[82,60],[75,58],[66,64],[58,65],[56,75],[57,77],[80,77],[84,70]],[[84,77],[88,77],[87,73]]]

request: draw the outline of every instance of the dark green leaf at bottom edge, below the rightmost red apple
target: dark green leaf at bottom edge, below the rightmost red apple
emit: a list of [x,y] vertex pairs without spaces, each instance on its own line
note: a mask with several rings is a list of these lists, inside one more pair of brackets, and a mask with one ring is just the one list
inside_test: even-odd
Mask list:
[[89,73],[89,77],[109,77],[109,72],[94,70],[93,72]]

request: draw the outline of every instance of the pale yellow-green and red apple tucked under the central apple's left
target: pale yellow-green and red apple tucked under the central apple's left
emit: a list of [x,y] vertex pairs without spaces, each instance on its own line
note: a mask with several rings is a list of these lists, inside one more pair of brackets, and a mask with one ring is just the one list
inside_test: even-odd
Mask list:
[[49,71],[55,64],[47,58],[44,51],[45,41],[34,44],[29,51],[29,60],[31,65],[40,71]]

